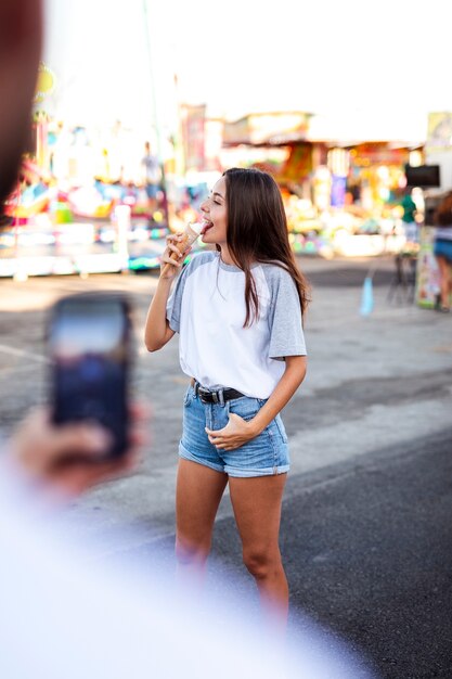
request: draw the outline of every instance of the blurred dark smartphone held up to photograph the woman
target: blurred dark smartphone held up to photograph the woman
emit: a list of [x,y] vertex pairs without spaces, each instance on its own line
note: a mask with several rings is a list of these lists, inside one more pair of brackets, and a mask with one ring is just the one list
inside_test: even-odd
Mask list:
[[63,297],[50,315],[48,347],[53,422],[102,424],[112,435],[107,457],[120,457],[129,432],[130,302],[116,293]]

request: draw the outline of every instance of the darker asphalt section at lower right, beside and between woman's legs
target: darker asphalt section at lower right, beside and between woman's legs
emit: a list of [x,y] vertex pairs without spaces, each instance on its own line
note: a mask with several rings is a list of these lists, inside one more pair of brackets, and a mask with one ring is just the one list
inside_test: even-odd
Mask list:
[[[281,548],[292,605],[382,677],[452,676],[451,440],[452,427],[289,478]],[[241,567],[231,518],[214,553],[230,573]]]

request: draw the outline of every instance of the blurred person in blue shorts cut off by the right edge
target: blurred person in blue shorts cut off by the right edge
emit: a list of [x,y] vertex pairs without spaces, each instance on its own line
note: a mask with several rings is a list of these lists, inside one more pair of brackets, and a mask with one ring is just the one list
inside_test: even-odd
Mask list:
[[451,309],[452,292],[452,191],[445,194],[435,214],[437,225],[434,254],[439,268],[440,294],[437,304],[439,311]]

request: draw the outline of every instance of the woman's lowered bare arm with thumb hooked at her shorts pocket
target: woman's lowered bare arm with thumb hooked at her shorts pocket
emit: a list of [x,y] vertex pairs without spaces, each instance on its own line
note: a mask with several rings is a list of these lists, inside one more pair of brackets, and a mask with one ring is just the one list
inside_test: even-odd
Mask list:
[[229,415],[229,423],[222,430],[208,430],[206,432],[214,446],[224,450],[233,450],[258,436],[266,426],[288,403],[295,392],[305,379],[307,358],[306,356],[287,356],[283,376],[276,384],[268,401],[259,410],[253,420],[246,421],[235,413]]

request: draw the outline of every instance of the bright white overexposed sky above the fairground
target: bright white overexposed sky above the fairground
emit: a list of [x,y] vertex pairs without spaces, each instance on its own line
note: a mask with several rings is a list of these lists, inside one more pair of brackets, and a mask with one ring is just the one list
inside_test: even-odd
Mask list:
[[46,0],[48,105],[74,123],[165,130],[178,101],[228,119],[307,111],[417,139],[429,111],[452,110],[448,3]]

